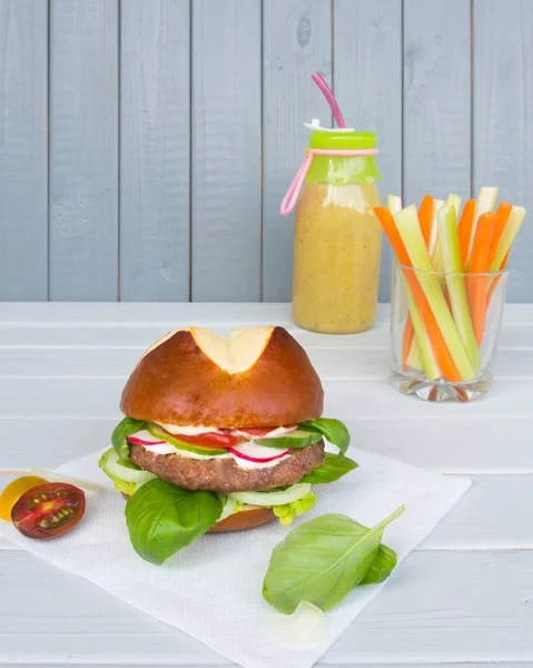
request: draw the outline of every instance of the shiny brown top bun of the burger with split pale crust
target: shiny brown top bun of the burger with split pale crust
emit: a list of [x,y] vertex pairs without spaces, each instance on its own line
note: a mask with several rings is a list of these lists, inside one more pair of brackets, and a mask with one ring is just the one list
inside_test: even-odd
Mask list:
[[324,391],[304,348],[283,327],[178,330],[142,356],[122,392],[129,418],[219,429],[319,418]]

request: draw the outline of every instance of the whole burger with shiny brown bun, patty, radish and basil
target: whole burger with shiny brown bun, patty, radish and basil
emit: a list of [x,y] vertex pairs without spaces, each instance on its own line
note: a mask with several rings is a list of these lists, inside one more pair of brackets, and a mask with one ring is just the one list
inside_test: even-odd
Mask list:
[[127,499],[137,553],[162,563],[207,532],[287,525],[312,510],[312,484],[357,465],[323,404],[316,371],[283,327],[229,338],[191,327],[157,341],[126,383],[126,416],[100,459]]

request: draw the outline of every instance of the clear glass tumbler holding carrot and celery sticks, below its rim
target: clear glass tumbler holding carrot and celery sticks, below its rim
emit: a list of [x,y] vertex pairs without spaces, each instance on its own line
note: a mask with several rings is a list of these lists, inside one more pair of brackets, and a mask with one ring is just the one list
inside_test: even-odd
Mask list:
[[425,401],[470,402],[491,386],[507,272],[393,267],[391,382]]

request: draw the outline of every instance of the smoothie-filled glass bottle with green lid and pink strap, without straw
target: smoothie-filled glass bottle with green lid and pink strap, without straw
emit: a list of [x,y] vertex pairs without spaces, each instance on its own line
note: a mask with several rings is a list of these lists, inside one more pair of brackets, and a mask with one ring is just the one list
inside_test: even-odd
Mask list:
[[382,228],[373,132],[320,128],[284,199],[295,215],[293,318],[306,330],[353,334],[376,318]]

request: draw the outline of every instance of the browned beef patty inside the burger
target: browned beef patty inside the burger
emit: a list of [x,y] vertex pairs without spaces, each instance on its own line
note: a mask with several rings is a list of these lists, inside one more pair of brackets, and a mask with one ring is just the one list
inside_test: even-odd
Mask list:
[[294,450],[275,466],[241,469],[233,459],[200,461],[179,454],[156,454],[142,445],[130,445],[131,461],[162,480],[186,490],[213,492],[265,492],[296,484],[304,475],[324,463],[324,442]]

